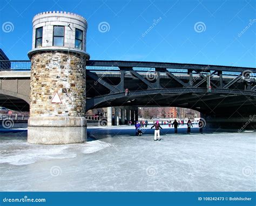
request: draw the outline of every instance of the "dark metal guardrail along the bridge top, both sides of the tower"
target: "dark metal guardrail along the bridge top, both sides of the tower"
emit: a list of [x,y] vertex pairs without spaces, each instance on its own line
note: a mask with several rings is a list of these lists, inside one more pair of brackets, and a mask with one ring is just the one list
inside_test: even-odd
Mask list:
[[[30,60],[0,60],[0,71],[30,71]],[[120,71],[119,67],[132,67],[138,72],[154,72],[156,68],[167,68],[172,73],[186,74],[188,70],[198,71],[222,71],[223,75],[239,75],[244,71],[251,71],[256,77],[256,68],[235,67],[235,66],[215,66],[199,64],[179,64],[179,63],[157,63],[146,61],[107,61],[107,60],[88,60],[86,69],[93,71]],[[193,73],[196,73],[193,71]]]

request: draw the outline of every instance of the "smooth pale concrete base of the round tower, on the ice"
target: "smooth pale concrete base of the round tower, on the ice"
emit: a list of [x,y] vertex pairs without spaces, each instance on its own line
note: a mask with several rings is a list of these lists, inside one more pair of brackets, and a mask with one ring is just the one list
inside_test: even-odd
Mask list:
[[76,116],[31,116],[28,142],[42,145],[82,143],[86,141],[86,119]]

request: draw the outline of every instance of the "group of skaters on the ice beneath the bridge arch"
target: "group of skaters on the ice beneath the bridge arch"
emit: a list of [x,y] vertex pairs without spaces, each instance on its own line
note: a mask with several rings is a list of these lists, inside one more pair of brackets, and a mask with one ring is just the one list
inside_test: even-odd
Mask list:
[[[145,127],[147,127],[148,123],[149,122],[147,122],[147,120],[145,122],[140,121],[140,123],[138,121],[136,121],[136,123],[135,123],[136,136],[142,135],[143,132],[140,128],[144,127],[144,125],[145,125]],[[177,120],[174,120],[172,123],[171,123],[171,121],[168,121],[169,127],[171,127],[171,125],[172,125],[172,127],[174,127],[175,134],[178,133],[179,123],[180,122],[178,122]],[[184,120],[183,120],[182,124],[184,125]],[[163,125],[163,121],[162,121],[162,125]],[[190,134],[190,132],[191,132],[191,127],[193,127],[193,124],[192,124],[191,120],[188,120],[187,121],[187,133],[188,134]],[[163,128],[161,127],[159,121],[156,121],[156,122],[153,121],[153,126],[151,127],[151,129],[152,128],[154,128],[154,141],[157,141],[157,140],[160,141],[161,140],[160,139],[160,129],[163,129]],[[199,131],[202,132],[200,125],[199,125]]]

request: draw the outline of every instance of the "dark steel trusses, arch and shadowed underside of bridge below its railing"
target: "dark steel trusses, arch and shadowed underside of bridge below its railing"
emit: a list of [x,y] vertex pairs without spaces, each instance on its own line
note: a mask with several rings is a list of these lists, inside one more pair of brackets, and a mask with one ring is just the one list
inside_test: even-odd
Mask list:
[[184,107],[199,111],[210,127],[239,129],[246,124],[256,128],[254,79],[245,81],[239,71],[225,76],[214,70],[172,71],[156,68],[149,74],[124,67],[119,71],[86,71],[86,109]]

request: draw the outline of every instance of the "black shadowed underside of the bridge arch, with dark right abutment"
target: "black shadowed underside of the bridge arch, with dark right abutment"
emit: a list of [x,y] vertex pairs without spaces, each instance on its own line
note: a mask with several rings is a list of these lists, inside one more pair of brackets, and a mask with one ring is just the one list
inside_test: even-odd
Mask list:
[[[213,93],[206,91],[168,93],[166,90],[131,92],[128,97],[120,97],[121,95],[123,94],[93,98],[92,104],[96,104],[93,108],[110,106],[191,108],[201,113],[207,127],[239,129],[249,122],[247,128],[256,129],[254,96],[221,94],[214,91]],[[90,104],[90,99],[87,102]]]

